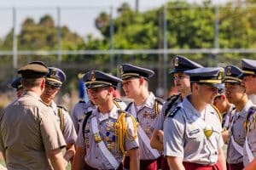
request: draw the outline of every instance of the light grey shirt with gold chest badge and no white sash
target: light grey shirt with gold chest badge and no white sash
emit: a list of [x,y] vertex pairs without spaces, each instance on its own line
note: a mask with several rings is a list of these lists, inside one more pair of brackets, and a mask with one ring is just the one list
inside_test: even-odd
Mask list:
[[[224,145],[218,115],[211,105],[199,113],[188,97],[178,106],[179,109],[164,122],[164,155],[198,164],[215,164],[218,150]],[[213,130],[208,139],[204,129]]]

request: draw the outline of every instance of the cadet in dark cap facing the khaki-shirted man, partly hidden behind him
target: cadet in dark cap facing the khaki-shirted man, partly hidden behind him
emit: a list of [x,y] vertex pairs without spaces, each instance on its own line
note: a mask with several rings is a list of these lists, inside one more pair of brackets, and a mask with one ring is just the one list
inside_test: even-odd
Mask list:
[[72,161],[75,154],[74,143],[77,139],[77,133],[66,109],[56,105],[54,101],[55,95],[60,91],[62,83],[66,81],[66,75],[59,68],[49,67],[48,69],[49,73],[46,75],[44,93],[41,95],[41,99],[54,111],[56,120],[59,122],[61,132],[67,143],[64,157],[67,161]]

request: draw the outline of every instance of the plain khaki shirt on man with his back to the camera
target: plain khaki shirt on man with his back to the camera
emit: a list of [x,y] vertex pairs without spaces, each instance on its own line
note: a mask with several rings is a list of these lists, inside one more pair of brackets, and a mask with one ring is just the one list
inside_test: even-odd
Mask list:
[[66,145],[54,113],[32,92],[4,109],[0,126],[8,169],[51,169],[46,152]]

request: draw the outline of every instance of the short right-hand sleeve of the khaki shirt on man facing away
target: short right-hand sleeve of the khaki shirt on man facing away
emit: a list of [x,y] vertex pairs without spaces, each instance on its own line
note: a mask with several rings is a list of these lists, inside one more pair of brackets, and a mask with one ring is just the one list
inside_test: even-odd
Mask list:
[[44,110],[40,121],[40,131],[46,151],[55,150],[66,146],[61,129],[51,110]]

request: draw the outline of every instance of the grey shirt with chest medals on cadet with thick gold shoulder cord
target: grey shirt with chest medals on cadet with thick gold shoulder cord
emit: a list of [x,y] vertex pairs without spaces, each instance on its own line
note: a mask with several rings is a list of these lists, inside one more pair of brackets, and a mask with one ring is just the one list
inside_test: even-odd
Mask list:
[[[128,114],[128,113],[127,113]],[[84,156],[84,161],[90,166],[97,169],[113,169],[112,165],[109,163],[106,156],[102,154],[102,150],[99,144],[96,143],[94,139],[94,134],[92,133],[92,117],[96,117],[98,123],[98,129],[100,136],[108,147],[108,150],[114,156],[114,158],[121,163],[123,160],[123,154],[118,149],[118,145],[115,142],[117,138],[114,131],[114,122],[116,122],[119,116],[118,108],[113,105],[113,109],[108,114],[102,114],[97,110],[94,110],[86,122],[84,129],[84,136],[82,129],[79,130],[79,136],[76,142],[77,147],[82,147],[86,150],[86,155]],[[128,116],[127,118],[130,119]],[[131,121],[127,122],[127,133],[134,135],[134,127]],[[131,150],[138,147],[138,141],[136,139],[131,139],[125,135],[125,150]]]

